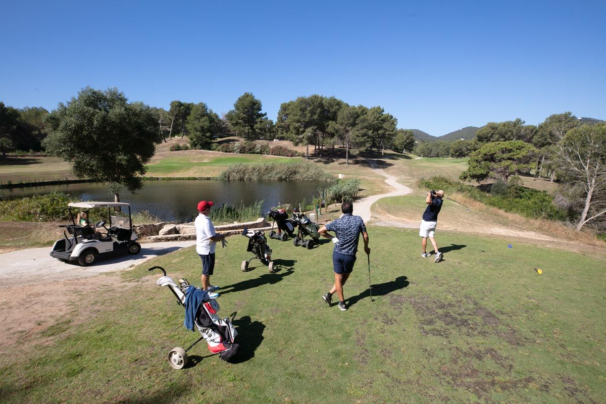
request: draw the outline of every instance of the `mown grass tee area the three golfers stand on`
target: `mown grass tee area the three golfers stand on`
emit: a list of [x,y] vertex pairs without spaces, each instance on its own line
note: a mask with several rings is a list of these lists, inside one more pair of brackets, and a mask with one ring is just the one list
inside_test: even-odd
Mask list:
[[253,261],[242,273],[247,239],[230,237],[212,280],[222,286],[219,314],[238,327],[234,363],[209,357],[202,342],[192,366],[168,366],[168,351],[198,336],[147,268],[199,285],[193,248],[125,271],[122,288],[74,303],[93,316],[1,348],[2,402],[604,401],[604,260],[442,232],[436,264],[419,257],[417,230],[369,233],[376,300],[361,256],[345,313],[320,299],[333,282],[330,243],[270,240],[281,271]]

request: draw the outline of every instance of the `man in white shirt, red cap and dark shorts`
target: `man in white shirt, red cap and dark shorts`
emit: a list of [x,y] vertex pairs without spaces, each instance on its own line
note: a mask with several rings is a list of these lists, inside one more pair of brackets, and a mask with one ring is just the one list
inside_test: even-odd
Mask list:
[[198,203],[198,217],[196,217],[196,253],[202,259],[202,290],[208,292],[208,297],[214,299],[219,297],[215,290],[219,286],[210,284],[210,276],[215,270],[215,246],[218,241],[225,239],[224,234],[216,234],[208,214],[213,202],[201,200]]

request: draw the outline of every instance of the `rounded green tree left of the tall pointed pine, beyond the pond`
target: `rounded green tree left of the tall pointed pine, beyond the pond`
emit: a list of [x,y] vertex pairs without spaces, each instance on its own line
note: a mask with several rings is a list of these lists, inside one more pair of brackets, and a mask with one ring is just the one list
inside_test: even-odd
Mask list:
[[193,148],[208,148],[217,137],[225,133],[221,118],[204,102],[199,102],[191,108],[186,125]]

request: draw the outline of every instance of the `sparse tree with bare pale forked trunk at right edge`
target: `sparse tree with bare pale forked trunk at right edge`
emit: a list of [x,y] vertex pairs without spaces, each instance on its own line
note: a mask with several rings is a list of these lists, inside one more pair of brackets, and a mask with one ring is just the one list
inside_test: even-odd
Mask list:
[[576,230],[606,224],[606,124],[582,125],[568,131],[555,147],[561,193],[578,213]]

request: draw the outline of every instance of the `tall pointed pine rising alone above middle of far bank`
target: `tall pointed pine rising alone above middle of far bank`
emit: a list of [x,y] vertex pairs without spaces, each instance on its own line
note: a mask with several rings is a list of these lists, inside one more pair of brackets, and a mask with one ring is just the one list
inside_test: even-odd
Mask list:
[[272,133],[273,122],[261,110],[261,100],[251,93],[244,93],[233,104],[233,110],[225,114],[225,118],[237,136],[246,139],[267,138]]

